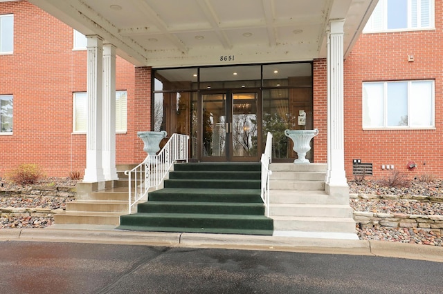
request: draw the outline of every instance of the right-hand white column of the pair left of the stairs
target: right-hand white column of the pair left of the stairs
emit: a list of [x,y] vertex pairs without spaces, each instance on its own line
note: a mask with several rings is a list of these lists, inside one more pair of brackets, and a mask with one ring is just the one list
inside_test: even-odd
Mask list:
[[103,46],[103,173],[105,180],[118,179],[116,169],[116,47]]

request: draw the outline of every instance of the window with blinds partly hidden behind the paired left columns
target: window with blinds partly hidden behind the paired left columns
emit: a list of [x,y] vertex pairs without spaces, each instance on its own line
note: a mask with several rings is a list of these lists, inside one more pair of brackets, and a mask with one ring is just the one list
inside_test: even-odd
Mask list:
[[[73,94],[73,132],[87,131],[87,92]],[[116,132],[127,130],[127,91],[116,91]]]

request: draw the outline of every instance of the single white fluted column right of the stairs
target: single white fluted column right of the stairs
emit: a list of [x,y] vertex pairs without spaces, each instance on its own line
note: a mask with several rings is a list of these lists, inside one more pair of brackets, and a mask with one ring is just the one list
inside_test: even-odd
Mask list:
[[327,175],[329,194],[348,193],[343,124],[343,24],[329,21],[327,42]]

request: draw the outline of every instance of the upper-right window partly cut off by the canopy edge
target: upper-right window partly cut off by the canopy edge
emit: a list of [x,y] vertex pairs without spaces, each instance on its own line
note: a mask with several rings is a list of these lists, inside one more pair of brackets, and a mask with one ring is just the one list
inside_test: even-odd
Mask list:
[[434,0],[379,0],[363,32],[434,28]]

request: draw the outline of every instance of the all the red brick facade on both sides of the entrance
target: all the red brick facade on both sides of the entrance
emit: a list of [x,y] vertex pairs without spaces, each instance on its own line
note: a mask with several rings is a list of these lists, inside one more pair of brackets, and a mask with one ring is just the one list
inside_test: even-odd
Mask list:
[[[82,173],[86,136],[72,134],[72,92],[86,91],[87,52],[73,51],[73,30],[27,1],[2,2],[0,14],[14,14],[13,55],[0,55],[0,95],[14,95],[14,133],[0,136],[0,177],[21,163],[36,163],[47,175]],[[345,170],[352,159],[374,165],[374,177],[392,164],[410,177],[443,177],[443,3],[435,1],[436,30],[361,35],[345,60]],[[38,26],[35,25],[38,23]],[[415,61],[408,62],[408,55]],[[117,164],[145,157],[138,130],[150,130],[150,68],[117,59],[117,90],[127,90],[127,133],[116,135]],[[435,130],[362,130],[363,81],[435,79]],[[326,162],[326,60],[314,60],[314,161]],[[415,161],[415,170],[408,170]]]

